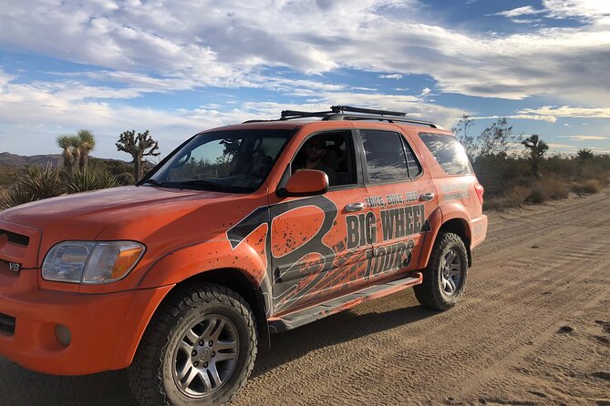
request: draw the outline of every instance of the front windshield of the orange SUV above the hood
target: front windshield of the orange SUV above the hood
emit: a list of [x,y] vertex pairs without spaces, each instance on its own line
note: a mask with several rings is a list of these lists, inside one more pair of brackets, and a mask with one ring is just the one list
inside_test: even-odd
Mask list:
[[164,188],[248,193],[263,184],[292,131],[215,131],[191,139],[142,182]]

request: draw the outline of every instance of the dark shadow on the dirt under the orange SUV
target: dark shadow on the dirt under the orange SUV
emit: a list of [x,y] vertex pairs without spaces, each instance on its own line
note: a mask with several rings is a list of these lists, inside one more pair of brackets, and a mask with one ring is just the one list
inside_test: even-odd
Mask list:
[[[312,350],[366,337],[439,314],[416,305],[412,292],[400,292],[396,295],[402,296],[398,301],[405,303],[404,308],[383,310],[386,299],[377,299],[371,303],[377,302],[379,306],[373,305],[374,309],[364,314],[347,310],[298,329],[273,335],[271,350],[259,352],[253,377],[263,375],[291,360],[297,360]],[[0,388],[1,406],[137,406],[129,391],[125,370],[82,377],[57,377],[26,370],[0,358]]]

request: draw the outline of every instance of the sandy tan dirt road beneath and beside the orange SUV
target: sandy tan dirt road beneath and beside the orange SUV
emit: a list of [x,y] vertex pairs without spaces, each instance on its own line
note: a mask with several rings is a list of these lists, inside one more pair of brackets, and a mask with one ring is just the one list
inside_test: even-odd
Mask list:
[[[609,360],[606,192],[491,215],[454,310],[408,289],[274,336],[236,403],[610,405]],[[49,377],[0,358],[0,404],[133,401],[123,371]]]

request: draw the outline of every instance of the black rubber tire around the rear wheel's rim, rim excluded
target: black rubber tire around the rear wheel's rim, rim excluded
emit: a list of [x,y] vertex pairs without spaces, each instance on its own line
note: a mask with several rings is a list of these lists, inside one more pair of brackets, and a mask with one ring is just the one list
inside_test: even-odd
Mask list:
[[453,301],[447,301],[440,295],[439,264],[440,260],[442,259],[443,250],[448,245],[459,246],[463,254],[462,259],[467,258],[466,247],[464,246],[464,241],[462,241],[460,236],[449,232],[441,232],[439,234],[429,258],[428,267],[426,267],[426,269],[423,271],[423,282],[413,287],[415,297],[425,308],[432,310],[450,310],[456,305],[457,301],[464,292],[466,279],[464,279],[460,292],[458,292]]

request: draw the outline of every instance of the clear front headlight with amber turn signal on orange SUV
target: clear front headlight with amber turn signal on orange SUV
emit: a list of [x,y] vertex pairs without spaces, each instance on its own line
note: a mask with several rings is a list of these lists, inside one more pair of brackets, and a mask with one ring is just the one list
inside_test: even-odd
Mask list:
[[42,277],[73,283],[108,283],[125,278],[145,247],[134,241],[65,241],[50,249]]

